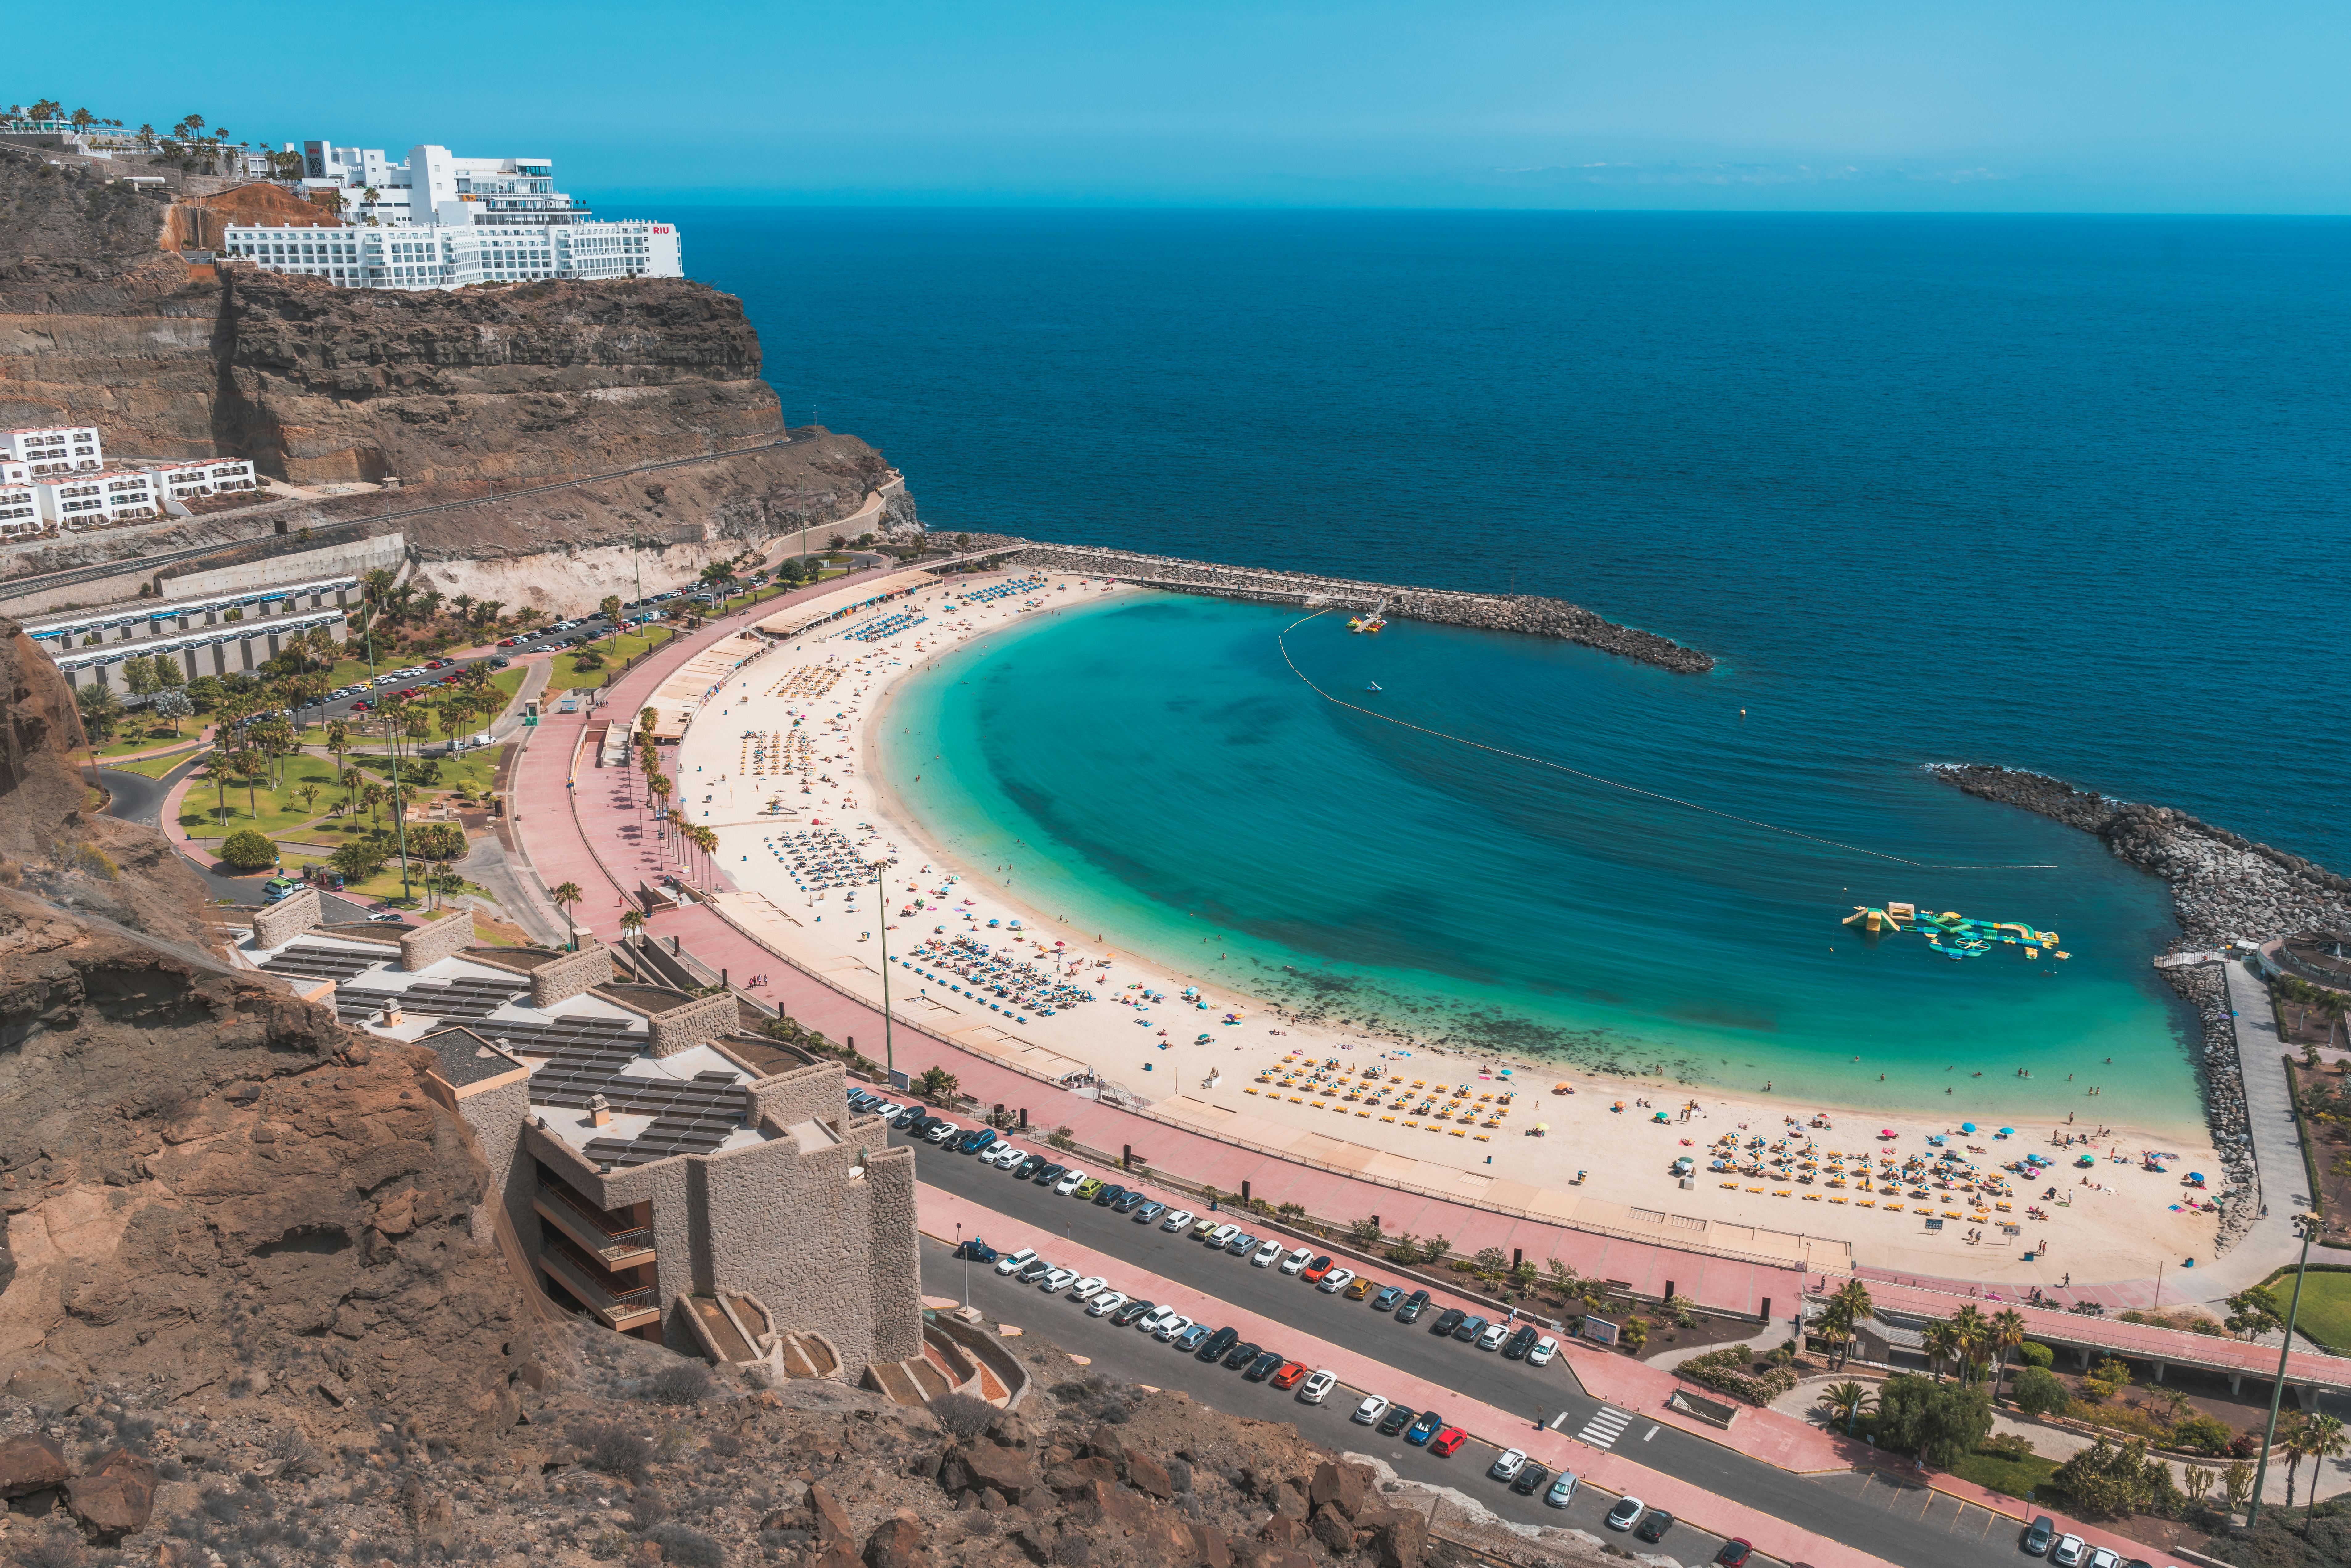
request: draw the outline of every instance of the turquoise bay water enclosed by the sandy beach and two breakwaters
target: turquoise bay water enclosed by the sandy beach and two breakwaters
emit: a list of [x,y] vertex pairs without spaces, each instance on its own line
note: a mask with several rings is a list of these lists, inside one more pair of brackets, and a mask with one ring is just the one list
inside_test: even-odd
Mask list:
[[[1140,597],[959,649],[886,710],[891,788],[1032,907],[1331,1018],[1770,1084],[1791,1110],[2198,1126],[2193,1018],[2146,964],[2168,896],[2092,837],[1742,719],[1766,684],[1735,670],[1335,616],[1288,632],[1347,703],[1853,849],[1747,827],[1328,703],[1281,658],[1295,618]],[[2074,957],[1954,964],[1838,924],[1888,900],[2027,919]]]

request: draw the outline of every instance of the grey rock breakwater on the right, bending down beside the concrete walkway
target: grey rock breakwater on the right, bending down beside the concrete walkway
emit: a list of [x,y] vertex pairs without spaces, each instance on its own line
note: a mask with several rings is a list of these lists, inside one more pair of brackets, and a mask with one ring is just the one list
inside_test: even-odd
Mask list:
[[[2118,860],[2163,877],[2179,919],[2175,952],[2215,952],[2233,940],[2266,943],[2351,919],[2351,877],[2255,844],[2186,811],[2111,799],[2022,769],[1968,764],[1937,766],[1935,773],[1980,799],[2095,832]],[[2245,1072],[2236,1056],[2236,1027],[2229,1023],[2229,987],[2210,964],[2165,966],[2163,978],[2203,1020],[2205,1114],[2229,1168],[2217,1244],[2226,1251],[2259,1218]]]

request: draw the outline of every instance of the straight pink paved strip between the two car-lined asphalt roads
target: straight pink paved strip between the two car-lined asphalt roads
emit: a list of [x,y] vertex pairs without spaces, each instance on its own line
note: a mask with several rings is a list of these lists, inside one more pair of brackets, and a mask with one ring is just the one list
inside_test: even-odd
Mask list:
[[[1415,1410],[1444,1410],[1446,1420],[1455,1427],[1462,1427],[1495,1448],[1521,1448],[1552,1469],[1573,1469],[1585,1481],[1608,1493],[1636,1493],[1643,1502],[1672,1509],[1679,1519],[1695,1519],[1719,1535],[1742,1535],[1751,1540],[1756,1549],[1777,1556],[1784,1563],[1803,1561],[1817,1563],[1817,1568],[1871,1568],[1883,1563],[1878,1556],[1855,1552],[1853,1547],[1824,1540],[1808,1530],[1799,1530],[1784,1519],[1759,1514],[1756,1509],[1719,1497],[1716,1493],[1690,1486],[1688,1481],[1669,1476],[1660,1469],[1634,1465],[1615,1453],[1587,1448],[1561,1432],[1535,1432],[1533,1422],[1521,1410],[1498,1410],[1474,1399],[1465,1399],[1455,1389],[1413,1378],[1411,1373],[1401,1373],[1342,1345],[1310,1338],[1288,1324],[1260,1319],[1253,1312],[1232,1307],[1230,1302],[1206,1295],[1204,1291],[1180,1286],[1157,1274],[1145,1274],[1131,1262],[1077,1246],[1065,1237],[1020,1225],[1009,1215],[980,1208],[978,1204],[940,1192],[938,1187],[917,1185],[917,1213],[922,1229],[933,1237],[952,1239],[955,1225],[962,1222],[966,1234],[985,1234],[990,1244],[999,1248],[1018,1251],[1023,1246],[1034,1246],[1063,1267],[1100,1274],[1119,1288],[1140,1291],[1154,1302],[1176,1307],[1185,1316],[1208,1324],[1232,1324],[1241,1331],[1241,1335],[1255,1340],[1258,1345],[1272,1345],[1286,1356],[1328,1368],[1338,1373],[1342,1389],[1352,1389],[1349,1403],[1359,1401],[1364,1394],[1378,1392],[1387,1399],[1399,1399]],[[1053,1316],[1072,1312],[1079,1312],[1079,1307],[1039,1293],[1034,1321],[1018,1326],[1051,1335]],[[1342,1394],[1333,1389],[1331,1403],[1340,1406],[1340,1413],[1345,1413],[1340,1399]],[[1345,1434],[1333,1436],[1331,1441],[1345,1446],[1364,1436],[1368,1434],[1349,1425],[1345,1427]],[[1474,1495],[1476,1481],[1491,1458],[1467,1450],[1455,1458],[1465,1460],[1455,1486],[1462,1486]]]

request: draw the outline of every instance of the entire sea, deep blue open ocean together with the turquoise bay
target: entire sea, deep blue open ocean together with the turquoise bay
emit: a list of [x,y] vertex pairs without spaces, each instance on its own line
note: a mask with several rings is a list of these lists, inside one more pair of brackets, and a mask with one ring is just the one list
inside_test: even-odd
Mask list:
[[[2031,1084],[2048,1051],[2130,1051],[2146,1117],[2186,1121],[2161,886],[1923,764],[2351,865],[2351,223],[677,216],[788,418],[875,442],[933,529],[1568,597],[1721,668],[1411,623],[1310,623],[1291,654],[1349,701],[1378,679],[1399,717],[1721,811],[2062,865],[1925,875],[1415,738],[1314,698],[1274,646],[1291,616],[1244,607],[1067,616],[905,698],[985,757],[926,806],[938,832],[1020,839],[1136,940],[1213,922],[1237,983],[1841,1103],[1940,1095],[1921,1074],[1954,1051],[2012,1095],[2010,1046]],[[2003,954],[1838,940],[1886,898],[2043,922],[2076,957],[2024,985]],[[1860,1039],[1916,1058],[1900,1093]]]

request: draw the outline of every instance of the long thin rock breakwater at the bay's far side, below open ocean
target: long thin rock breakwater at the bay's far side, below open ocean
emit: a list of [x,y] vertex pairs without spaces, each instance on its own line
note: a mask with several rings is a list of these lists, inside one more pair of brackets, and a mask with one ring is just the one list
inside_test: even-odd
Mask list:
[[1258,567],[1220,567],[1213,562],[1190,562],[1173,555],[1138,555],[1133,550],[1093,550],[1084,545],[1032,543],[1011,557],[1013,567],[1039,571],[1070,571],[1084,576],[1114,576],[1145,588],[1176,592],[1208,592],[1227,599],[1262,599],[1270,604],[1300,604],[1333,609],[1371,609],[1385,602],[1387,616],[1399,621],[1429,621],[1434,625],[1469,625],[1486,632],[1521,632],[1526,637],[1556,637],[1580,642],[1587,649],[1632,658],[1676,675],[1704,675],[1714,658],[1697,649],[1686,649],[1669,637],[1617,625],[1589,609],[1566,599],[1545,599],[1531,592],[1451,592],[1441,588],[1408,588],[1404,583],[1359,583],[1354,578],[1314,576],[1307,571],[1265,571]]

